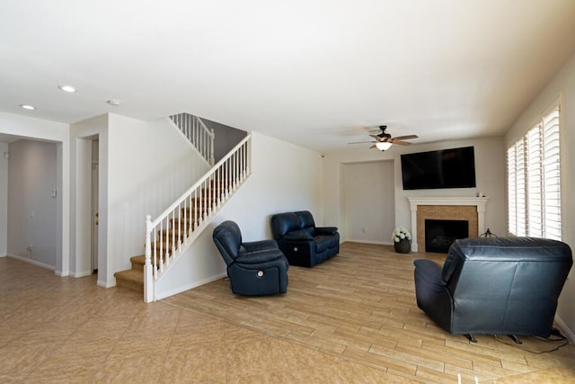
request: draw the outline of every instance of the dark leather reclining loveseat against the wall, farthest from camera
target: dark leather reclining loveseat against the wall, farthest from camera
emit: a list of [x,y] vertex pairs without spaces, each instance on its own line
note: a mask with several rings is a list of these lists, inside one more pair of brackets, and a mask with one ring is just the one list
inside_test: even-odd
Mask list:
[[271,231],[290,265],[313,267],[340,253],[336,227],[315,227],[308,210],[271,216]]

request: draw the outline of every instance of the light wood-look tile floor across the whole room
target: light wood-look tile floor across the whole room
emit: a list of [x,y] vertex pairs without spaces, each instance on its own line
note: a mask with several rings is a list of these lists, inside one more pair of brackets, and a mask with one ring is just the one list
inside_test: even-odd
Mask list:
[[571,344],[535,354],[431,323],[415,303],[416,258],[445,255],[344,243],[313,269],[290,267],[285,295],[234,296],[224,279],[151,304],[0,258],[0,382],[575,382]]

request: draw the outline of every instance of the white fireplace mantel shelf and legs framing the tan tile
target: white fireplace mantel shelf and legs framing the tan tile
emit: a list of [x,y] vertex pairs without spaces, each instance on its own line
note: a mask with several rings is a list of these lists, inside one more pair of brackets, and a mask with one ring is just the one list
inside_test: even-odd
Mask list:
[[477,207],[477,225],[479,233],[485,232],[485,205],[487,197],[408,197],[411,205],[411,251],[418,251],[417,244],[417,207],[419,205],[461,205]]

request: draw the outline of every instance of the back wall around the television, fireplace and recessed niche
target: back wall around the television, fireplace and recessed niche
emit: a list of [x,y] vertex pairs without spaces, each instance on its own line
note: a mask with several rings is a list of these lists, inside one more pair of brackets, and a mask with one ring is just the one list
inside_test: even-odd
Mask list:
[[[420,145],[415,144],[416,140],[413,142],[409,147],[394,146],[385,152],[365,147],[326,154],[323,159],[323,219],[334,223],[332,225],[337,227],[346,228],[346,218],[343,215],[342,206],[345,185],[341,178],[341,169],[344,165],[392,160],[394,162],[395,188],[392,203],[395,207],[395,226],[401,225],[411,228],[411,208],[407,200],[408,197],[475,196],[481,190],[490,198],[485,210],[486,227],[490,228],[494,234],[504,235],[506,216],[503,138],[477,138]],[[403,191],[401,154],[468,146],[473,146],[475,151],[476,188]],[[368,203],[369,201],[366,201],[366,204]],[[391,237],[391,232],[386,235]],[[343,233],[342,237],[347,239],[349,235]]]

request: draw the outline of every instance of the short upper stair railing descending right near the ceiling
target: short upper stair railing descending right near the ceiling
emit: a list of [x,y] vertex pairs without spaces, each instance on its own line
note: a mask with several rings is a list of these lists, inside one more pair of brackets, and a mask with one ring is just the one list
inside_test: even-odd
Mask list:
[[170,116],[170,120],[181,130],[190,143],[198,149],[209,165],[214,165],[214,129],[208,129],[204,121],[190,113]]

